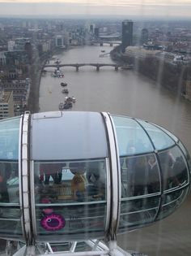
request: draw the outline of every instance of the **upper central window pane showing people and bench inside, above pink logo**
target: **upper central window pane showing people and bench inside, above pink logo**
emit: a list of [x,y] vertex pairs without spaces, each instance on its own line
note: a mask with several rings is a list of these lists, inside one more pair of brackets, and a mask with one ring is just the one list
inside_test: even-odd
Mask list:
[[[104,160],[35,163],[36,202],[87,202],[105,200]],[[45,200],[49,197],[49,200]],[[43,202],[42,202],[43,201]]]

